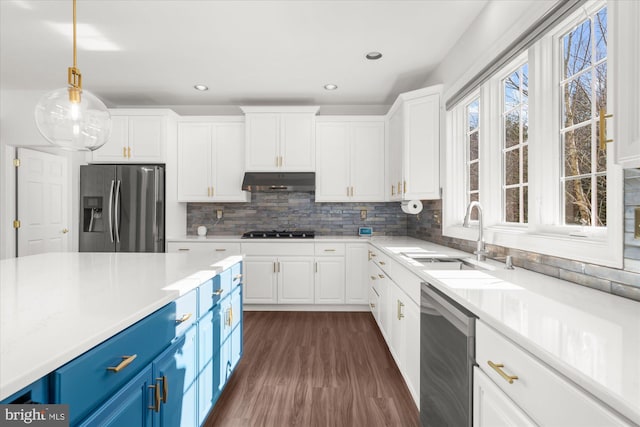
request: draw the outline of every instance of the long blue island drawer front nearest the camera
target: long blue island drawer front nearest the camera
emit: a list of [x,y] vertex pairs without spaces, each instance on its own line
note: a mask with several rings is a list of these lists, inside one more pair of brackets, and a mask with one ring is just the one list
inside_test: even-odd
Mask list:
[[[51,379],[53,403],[69,404],[74,425],[151,363],[174,338],[175,325],[172,303],[57,369]],[[137,357],[121,371],[107,369],[134,354]]]

